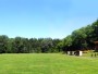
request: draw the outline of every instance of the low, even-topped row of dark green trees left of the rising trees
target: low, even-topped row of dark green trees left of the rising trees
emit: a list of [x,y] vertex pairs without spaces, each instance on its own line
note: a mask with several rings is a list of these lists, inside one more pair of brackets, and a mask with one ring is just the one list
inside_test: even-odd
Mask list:
[[0,53],[39,53],[59,52],[60,39],[52,38],[9,38],[0,36]]

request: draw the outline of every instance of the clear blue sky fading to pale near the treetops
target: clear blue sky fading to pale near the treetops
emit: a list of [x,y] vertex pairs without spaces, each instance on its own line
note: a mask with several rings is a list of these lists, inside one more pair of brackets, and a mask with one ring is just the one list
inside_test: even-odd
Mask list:
[[0,0],[0,35],[64,38],[98,18],[98,0]]

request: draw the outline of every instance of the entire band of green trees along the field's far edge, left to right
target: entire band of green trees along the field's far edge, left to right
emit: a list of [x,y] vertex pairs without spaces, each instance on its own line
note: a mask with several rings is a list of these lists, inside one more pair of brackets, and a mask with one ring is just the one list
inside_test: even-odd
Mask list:
[[68,50],[94,49],[98,40],[98,20],[90,25],[72,32],[63,39],[52,38],[9,38],[0,36],[0,53],[48,53]]

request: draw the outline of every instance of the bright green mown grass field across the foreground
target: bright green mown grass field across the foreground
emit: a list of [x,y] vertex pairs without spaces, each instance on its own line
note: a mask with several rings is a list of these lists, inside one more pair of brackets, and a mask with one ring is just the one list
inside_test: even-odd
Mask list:
[[61,53],[0,54],[0,74],[98,74],[98,58]]

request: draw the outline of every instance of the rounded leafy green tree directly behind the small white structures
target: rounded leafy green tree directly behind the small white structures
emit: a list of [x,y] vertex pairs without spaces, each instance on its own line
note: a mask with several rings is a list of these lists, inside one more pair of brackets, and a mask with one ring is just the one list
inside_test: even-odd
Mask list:
[[83,49],[84,45],[86,42],[86,33],[85,27],[82,27],[81,29],[74,30],[72,33],[73,44],[75,46],[75,49],[79,50]]

